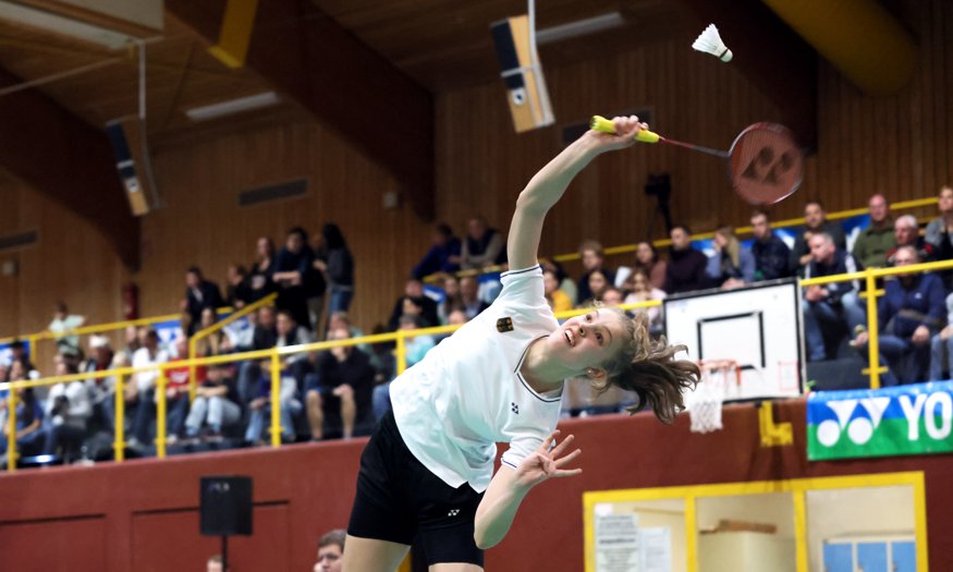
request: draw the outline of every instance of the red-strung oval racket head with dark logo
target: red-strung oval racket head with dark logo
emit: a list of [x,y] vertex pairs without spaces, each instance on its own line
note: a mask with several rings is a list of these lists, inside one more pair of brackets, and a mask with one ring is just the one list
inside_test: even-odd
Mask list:
[[804,179],[804,154],[784,125],[748,125],[729,153],[732,187],[752,205],[778,203],[794,194]]

